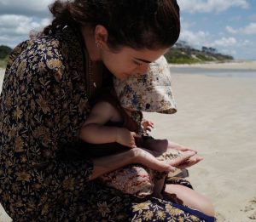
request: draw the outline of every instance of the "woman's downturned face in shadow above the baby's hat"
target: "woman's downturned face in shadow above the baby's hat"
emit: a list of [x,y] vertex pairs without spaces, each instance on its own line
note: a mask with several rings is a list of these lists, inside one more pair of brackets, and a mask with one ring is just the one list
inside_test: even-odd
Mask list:
[[148,70],[148,65],[159,59],[165,54],[168,48],[160,48],[155,50],[133,48],[121,48],[119,52],[112,50],[102,50],[102,61],[108,70],[119,79],[138,74],[144,74]]

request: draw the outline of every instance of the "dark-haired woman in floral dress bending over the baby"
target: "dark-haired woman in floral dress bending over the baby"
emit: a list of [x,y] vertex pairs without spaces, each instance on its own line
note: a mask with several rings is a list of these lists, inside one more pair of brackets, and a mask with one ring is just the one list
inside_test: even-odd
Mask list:
[[212,221],[211,204],[183,185],[166,189],[204,213],[93,181],[131,163],[168,172],[180,162],[157,161],[139,148],[93,160],[67,152],[79,146],[89,100],[108,84],[109,71],[118,78],[143,73],[177,41],[176,1],[56,1],[50,10],[52,25],[14,49],[4,77],[3,208],[19,221]]

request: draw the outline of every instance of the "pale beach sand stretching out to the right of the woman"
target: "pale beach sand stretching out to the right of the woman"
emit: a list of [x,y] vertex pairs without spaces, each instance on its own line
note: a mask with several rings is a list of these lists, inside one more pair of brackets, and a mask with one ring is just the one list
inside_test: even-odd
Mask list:
[[[176,114],[145,113],[152,135],[204,157],[188,179],[212,200],[218,221],[256,221],[256,78],[173,74],[172,88]],[[1,213],[0,221],[9,221]]]

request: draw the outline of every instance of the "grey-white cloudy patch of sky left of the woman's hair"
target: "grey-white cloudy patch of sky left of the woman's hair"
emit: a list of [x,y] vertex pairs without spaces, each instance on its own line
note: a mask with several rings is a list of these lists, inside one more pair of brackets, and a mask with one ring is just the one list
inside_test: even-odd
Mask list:
[[40,31],[51,20],[48,5],[54,0],[0,0],[0,44],[14,47]]

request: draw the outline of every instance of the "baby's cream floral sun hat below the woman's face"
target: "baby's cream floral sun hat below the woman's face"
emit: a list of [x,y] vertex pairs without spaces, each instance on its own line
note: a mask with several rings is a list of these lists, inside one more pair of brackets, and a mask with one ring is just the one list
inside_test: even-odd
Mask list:
[[166,58],[149,65],[143,75],[119,80],[113,77],[113,88],[120,105],[130,111],[172,114],[177,111],[171,88],[171,72]]

